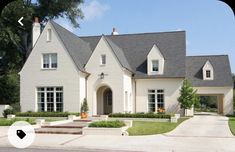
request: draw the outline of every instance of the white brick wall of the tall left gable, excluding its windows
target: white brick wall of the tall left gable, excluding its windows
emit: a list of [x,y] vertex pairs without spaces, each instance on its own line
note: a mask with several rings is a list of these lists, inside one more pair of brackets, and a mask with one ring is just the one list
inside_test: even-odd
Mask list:
[[[37,87],[62,86],[64,111],[78,112],[80,110],[79,95],[80,76],[77,67],[65,50],[62,42],[52,29],[52,40],[47,42],[47,29],[44,28],[33,51],[20,72],[20,104],[22,111],[37,111]],[[56,70],[41,69],[42,53],[57,53],[58,68]],[[82,79],[82,78],[81,78]],[[85,90],[85,88],[84,88]]]

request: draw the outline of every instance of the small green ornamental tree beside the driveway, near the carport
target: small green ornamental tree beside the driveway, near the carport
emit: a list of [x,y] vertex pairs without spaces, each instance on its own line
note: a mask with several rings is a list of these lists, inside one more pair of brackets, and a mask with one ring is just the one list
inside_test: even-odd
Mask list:
[[188,80],[184,80],[183,86],[180,89],[180,97],[178,101],[180,103],[180,108],[191,109],[193,105],[197,105],[199,102],[199,97],[196,94],[197,90],[194,90]]

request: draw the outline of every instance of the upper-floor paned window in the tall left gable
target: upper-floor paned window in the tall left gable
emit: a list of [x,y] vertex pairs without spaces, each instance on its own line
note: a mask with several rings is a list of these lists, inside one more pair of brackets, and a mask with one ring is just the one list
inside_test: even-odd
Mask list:
[[56,69],[57,68],[57,54],[56,53],[48,53],[43,54],[43,69]]

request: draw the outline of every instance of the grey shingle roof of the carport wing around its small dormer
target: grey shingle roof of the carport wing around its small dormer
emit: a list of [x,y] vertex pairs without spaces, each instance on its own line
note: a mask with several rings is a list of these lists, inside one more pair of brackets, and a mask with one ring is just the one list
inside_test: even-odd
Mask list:
[[[202,68],[208,60],[214,69],[214,80],[203,80]],[[186,78],[194,87],[233,86],[227,55],[187,56]]]

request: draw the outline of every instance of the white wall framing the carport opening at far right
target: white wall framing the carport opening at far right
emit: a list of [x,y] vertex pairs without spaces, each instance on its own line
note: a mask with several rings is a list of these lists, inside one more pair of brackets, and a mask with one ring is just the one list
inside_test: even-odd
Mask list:
[[223,94],[223,114],[233,114],[233,87],[194,87],[197,94]]

